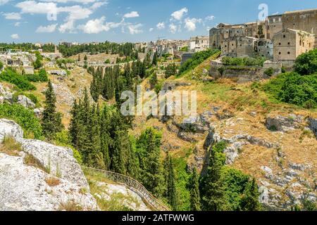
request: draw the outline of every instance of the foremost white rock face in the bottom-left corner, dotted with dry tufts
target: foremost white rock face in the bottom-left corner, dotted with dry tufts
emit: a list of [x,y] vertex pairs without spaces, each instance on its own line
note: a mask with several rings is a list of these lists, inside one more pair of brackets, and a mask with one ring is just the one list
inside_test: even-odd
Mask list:
[[22,157],[0,153],[0,210],[98,210],[96,200],[65,179],[49,184],[50,174],[27,166]]

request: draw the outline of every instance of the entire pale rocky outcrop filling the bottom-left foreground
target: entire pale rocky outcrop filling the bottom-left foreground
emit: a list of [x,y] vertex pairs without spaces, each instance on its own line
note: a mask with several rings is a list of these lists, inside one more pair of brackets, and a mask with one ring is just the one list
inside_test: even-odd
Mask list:
[[[12,120],[0,120],[0,142],[3,141],[4,136],[13,137],[21,144],[23,152],[20,153],[22,155],[21,158],[10,158],[8,155],[1,155],[1,160],[3,161],[0,162],[0,210],[1,207],[4,210],[56,210],[57,203],[66,204],[70,198],[74,198],[78,203],[81,200],[85,200],[86,197],[82,196],[83,194],[80,193],[80,190],[85,190],[89,193],[89,186],[80,165],[73,157],[73,150],[54,146],[44,141],[23,139],[23,130]],[[32,155],[39,163],[40,168],[44,168],[44,170],[34,169],[26,165],[21,166],[23,155],[25,154]],[[1,169],[1,167],[3,168]],[[27,172],[30,172],[30,174]],[[58,177],[61,185],[49,189],[44,184],[44,180],[48,176]],[[24,182],[23,179],[25,179]],[[16,189],[14,188],[15,186],[23,187]],[[12,193],[8,193],[8,190]],[[47,190],[49,190],[49,195],[51,195],[51,191],[56,192],[52,199],[44,193]],[[18,196],[25,193],[30,194],[23,199],[18,198]],[[1,201],[1,198],[9,198],[8,196],[11,196],[11,198],[15,197],[13,200],[16,203],[13,204],[13,200],[8,200],[8,203]],[[32,196],[34,200],[31,199]],[[93,209],[94,207],[91,206],[95,205],[95,203],[90,195],[87,196],[89,198],[83,203],[83,208]],[[42,201],[42,203],[33,205],[36,204],[36,201]],[[85,205],[86,202],[87,206]],[[80,203],[80,205],[82,204]]]

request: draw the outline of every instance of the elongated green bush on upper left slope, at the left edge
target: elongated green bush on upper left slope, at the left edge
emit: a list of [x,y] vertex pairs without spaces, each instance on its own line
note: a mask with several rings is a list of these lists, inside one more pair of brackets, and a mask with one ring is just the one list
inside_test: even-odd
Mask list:
[[31,84],[26,77],[23,75],[19,75],[18,72],[11,68],[6,68],[3,72],[1,72],[0,80],[9,82],[11,84],[15,84],[22,91],[30,91],[35,90],[35,86]]

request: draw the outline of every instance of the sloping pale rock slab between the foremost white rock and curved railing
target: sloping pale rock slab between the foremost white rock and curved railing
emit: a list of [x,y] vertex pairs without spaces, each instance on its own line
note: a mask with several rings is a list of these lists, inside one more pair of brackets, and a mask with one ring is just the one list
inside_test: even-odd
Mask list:
[[49,169],[51,174],[58,174],[62,179],[89,190],[85,175],[73,157],[73,150],[37,140],[23,139],[20,143],[23,151],[37,158],[44,167]]

